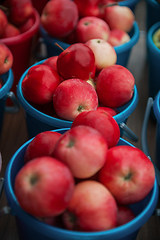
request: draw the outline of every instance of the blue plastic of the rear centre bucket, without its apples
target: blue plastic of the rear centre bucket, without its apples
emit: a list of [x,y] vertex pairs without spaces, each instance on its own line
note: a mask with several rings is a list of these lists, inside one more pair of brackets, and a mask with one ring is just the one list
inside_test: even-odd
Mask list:
[[[62,50],[59,47],[57,47],[55,43],[58,43],[63,49],[66,49],[70,46],[68,43],[62,42],[57,38],[49,36],[42,26],[40,26],[40,35],[43,38],[43,42],[46,46],[47,58],[59,55],[62,52]],[[136,22],[134,22],[134,26],[130,31],[129,35],[131,37],[131,40],[129,42],[121,46],[114,47],[117,53],[117,64],[122,65],[124,67],[127,66],[132,47],[139,40],[139,27]]]

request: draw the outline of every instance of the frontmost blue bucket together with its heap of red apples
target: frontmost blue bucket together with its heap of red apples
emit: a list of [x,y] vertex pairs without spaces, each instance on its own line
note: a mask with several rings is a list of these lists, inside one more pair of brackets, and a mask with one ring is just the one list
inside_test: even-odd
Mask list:
[[4,190],[0,215],[15,216],[20,240],[135,240],[158,202],[150,159],[122,138],[108,148],[84,125],[24,143],[8,163]]

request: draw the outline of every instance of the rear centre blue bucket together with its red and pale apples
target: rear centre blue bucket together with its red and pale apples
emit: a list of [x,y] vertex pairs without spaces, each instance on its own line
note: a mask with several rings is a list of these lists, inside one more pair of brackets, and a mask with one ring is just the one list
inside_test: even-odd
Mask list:
[[[63,12],[61,17],[60,11]],[[76,42],[102,39],[115,49],[117,64],[126,66],[131,50],[139,40],[139,27],[133,11],[115,1],[49,2],[42,11],[40,22],[40,46],[42,43],[46,46],[46,57],[60,54],[61,50],[55,43],[66,49]],[[103,55],[112,57],[108,46],[104,49]]]

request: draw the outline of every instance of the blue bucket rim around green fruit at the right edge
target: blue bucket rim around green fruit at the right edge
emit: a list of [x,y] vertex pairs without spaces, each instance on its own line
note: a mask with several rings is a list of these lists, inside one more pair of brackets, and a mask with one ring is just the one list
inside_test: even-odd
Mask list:
[[156,32],[156,30],[158,30],[159,28],[160,28],[160,21],[152,25],[147,33],[147,45],[148,45],[149,51],[152,51],[157,57],[160,57],[160,49],[156,47],[156,45],[154,44],[152,40],[152,36]]

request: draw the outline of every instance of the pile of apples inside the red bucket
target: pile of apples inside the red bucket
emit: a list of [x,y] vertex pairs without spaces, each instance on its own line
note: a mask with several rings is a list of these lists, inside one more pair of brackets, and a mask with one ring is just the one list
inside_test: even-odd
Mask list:
[[17,36],[34,25],[32,0],[4,0],[0,5],[0,39]]

